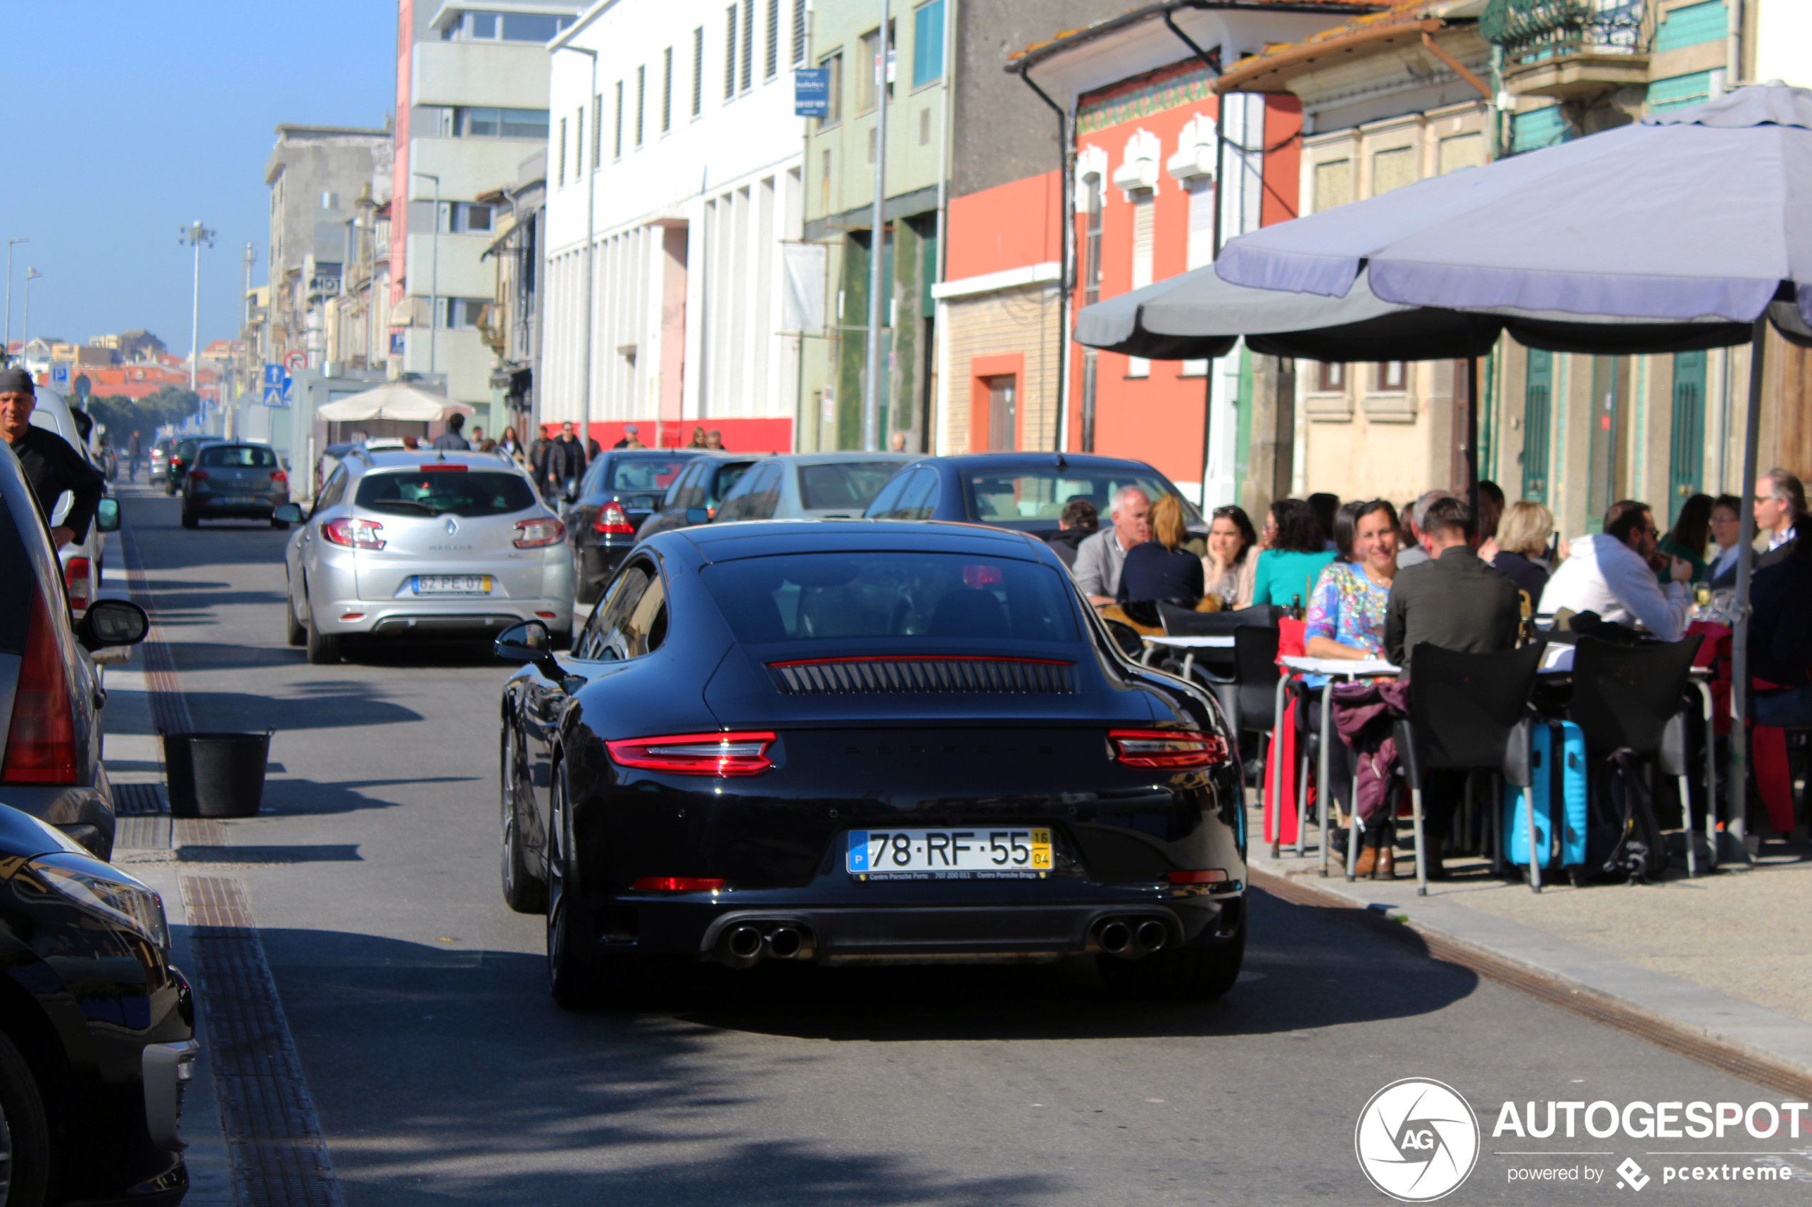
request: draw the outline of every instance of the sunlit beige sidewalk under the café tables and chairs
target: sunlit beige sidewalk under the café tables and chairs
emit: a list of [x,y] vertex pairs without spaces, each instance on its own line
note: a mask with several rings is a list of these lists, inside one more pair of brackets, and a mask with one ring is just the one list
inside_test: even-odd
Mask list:
[[1660,885],[1562,879],[1540,894],[1450,860],[1451,879],[1419,898],[1413,860],[1395,881],[1348,883],[1334,858],[1323,879],[1312,825],[1301,860],[1270,856],[1256,809],[1248,827],[1258,889],[1283,878],[1812,1077],[1812,843],[1769,843],[1752,867],[1696,879],[1674,869]]

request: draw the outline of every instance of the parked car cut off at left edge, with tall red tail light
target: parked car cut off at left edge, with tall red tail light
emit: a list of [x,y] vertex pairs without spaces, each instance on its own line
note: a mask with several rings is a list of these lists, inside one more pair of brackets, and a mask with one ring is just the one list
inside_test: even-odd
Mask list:
[[[120,527],[101,499],[94,527]],[[138,604],[96,599],[71,624],[63,572],[18,458],[0,443],[0,802],[111,858],[112,796],[101,769],[107,695],[82,650],[130,646],[149,621]]]

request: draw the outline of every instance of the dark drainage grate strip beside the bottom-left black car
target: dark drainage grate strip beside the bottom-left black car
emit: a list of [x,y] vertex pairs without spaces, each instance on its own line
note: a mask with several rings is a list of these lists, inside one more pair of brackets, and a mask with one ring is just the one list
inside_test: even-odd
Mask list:
[[236,1198],[342,1207],[245,885],[232,876],[183,876],[181,885]]

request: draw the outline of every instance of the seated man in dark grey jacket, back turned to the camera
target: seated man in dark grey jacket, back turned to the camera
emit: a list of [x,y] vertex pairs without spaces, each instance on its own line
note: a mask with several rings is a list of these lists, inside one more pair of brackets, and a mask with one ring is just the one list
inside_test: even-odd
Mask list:
[[[1466,499],[1450,496],[1430,503],[1417,519],[1417,536],[1428,561],[1397,570],[1384,608],[1384,657],[1402,668],[1412,693],[1415,646],[1426,642],[1460,653],[1515,650],[1522,624],[1517,584],[1473,552],[1479,532]],[[1441,851],[1464,793],[1464,771],[1428,771],[1422,776],[1430,879],[1446,876]],[[1364,860],[1359,867],[1364,869]],[[1388,856],[1384,867],[1390,869]]]

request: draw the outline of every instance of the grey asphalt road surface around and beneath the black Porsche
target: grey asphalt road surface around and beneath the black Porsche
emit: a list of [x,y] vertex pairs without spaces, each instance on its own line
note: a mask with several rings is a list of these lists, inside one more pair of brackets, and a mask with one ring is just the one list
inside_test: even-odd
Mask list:
[[[1493,1142],[1500,1102],[1778,1098],[1265,894],[1248,974],[1207,1006],[1113,1001],[1067,965],[763,966],[564,1013],[542,921],[496,887],[506,671],[446,646],[306,666],[283,644],[284,534],[185,532],[150,496],[127,514],[196,727],[275,729],[232,874],[353,1207],[1373,1203],[1354,1124],[1412,1075],[1486,1127],[1446,1202],[1584,1203],[1627,1193],[1513,1183],[1531,1162],[1495,1151],[1609,1167],[1653,1144]],[[1656,1178],[1642,1202],[1799,1194]]]

